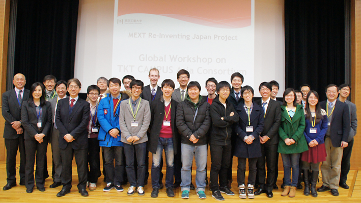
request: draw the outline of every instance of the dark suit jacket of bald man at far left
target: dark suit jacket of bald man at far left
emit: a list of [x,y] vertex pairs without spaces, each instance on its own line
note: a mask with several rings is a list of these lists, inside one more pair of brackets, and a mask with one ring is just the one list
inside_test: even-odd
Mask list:
[[[24,89],[22,101],[29,99],[30,90]],[[11,126],[11,122],[21,120],[21,107],[17,101],[15,89],[11,89],[3,93],[3,107],[2,114],[5,119],[4,138],[17,139],[19,135],[16,130]]]

